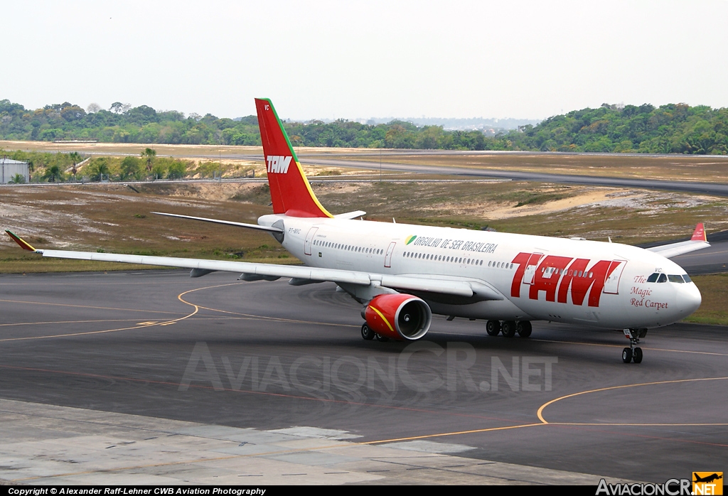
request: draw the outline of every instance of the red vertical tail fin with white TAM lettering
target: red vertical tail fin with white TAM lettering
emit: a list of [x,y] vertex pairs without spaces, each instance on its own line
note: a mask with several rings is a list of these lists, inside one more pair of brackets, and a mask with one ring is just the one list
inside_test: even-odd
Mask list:
[[267,98],[256,98],[256,111],[273,212],[292,217],[333,217],[311,190],[304,169],[298,162],[271,101]]

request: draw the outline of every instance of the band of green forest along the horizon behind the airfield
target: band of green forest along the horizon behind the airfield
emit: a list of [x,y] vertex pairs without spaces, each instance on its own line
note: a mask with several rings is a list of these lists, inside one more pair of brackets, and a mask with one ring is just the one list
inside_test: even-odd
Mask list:
[[[360,124],[285,122],[293,145],[445,150],[728,153],[728,108],[684,103],[609,105],[553,116],[536,126],[488,137],[483,132],[417,127],[405,121]],[[84,110],[68,102],[28,110],[0,100],[0,140],[96,140],[104,143],[260,145],[256,116],[218,118],[158,112],[116,102]]]

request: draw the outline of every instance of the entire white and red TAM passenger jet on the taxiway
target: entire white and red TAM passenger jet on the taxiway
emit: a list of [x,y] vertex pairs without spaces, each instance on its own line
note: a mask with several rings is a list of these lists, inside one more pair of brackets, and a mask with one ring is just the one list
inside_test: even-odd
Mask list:
[[195,260],[34,249],[44,257],[213,271],[240,279],[290,278],[294,286],[332,281],[363,303],[365,340],[418,340],[432,313],[484,319],[488,335],[531,335],[531,321],[623,329],[625,363],[642,361],[647,329],[673,324],[700,306],[700,291],[670,257],[710,246],[703,225],[690,241],[641,249],[584,239],[470,231],[331,215],[314,195],[270,100],[256,99],[273,213],[258,224],[161,215],[268,231],[304,265]]

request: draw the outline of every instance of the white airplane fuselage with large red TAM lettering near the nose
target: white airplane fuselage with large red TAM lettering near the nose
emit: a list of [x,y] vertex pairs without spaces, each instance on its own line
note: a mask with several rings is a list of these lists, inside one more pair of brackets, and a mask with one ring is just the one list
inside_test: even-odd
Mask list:
[[700,306],[692,282],[648,282],[654,273],[683,276],[679,265],[625,244],[286,215],[258,223],[279,220],[283,247],[306,265],[484,281],[503,297],[419,294],[433,313],[625,329],[672,324]]

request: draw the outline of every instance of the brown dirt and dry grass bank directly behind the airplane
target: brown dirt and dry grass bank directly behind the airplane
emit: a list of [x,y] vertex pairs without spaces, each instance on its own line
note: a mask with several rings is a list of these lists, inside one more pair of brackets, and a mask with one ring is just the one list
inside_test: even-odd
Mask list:
[[[0,222],[25,236],[44,239],[55,247],[100,247],[133,250],[154,239],[178,241],[176,230],[205,231],[210,239],[221,227],[180,223],[150,212],[176,212],[255,223],[269,213],[270,196],[261,182],[189,181],[141,183],[135,193],[119,183],[86,185],[20,185],[1,187]],[[368,218],[400,223],[490,226],[499,231],[546,236],[607,236],[638,243],[671,239],[692,232],[704,222],[708,232],[728,228],[728,199],[687,193],[668,193],[591,186],[518,183],[515,181],[326,182],[312,188],[333,213],[365,209]],[[208,232],[209,231],[209,232]],[[223,228],[224,232],[229,228]],[[241,236],[240,230],[232,231]],[[232,234],[232,233],[231,233]],[[249,236],[250,233],[245,233]],[[267,239],[267,238],[265,238]],[[161,242],[161,241],[160,241]],[[216,244],[206,241],[208,249]],[[215,245],[215,246],[213,246]],[[12,248],[0,239],[0,249]],[[189,249],[189,248],[188,248]]]

